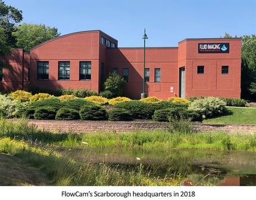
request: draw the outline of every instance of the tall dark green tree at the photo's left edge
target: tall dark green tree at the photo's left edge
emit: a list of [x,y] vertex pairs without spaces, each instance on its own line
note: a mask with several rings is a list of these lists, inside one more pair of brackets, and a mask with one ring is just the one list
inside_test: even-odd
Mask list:
[[22,11],[0,0],[0,58],[10,54],[11,47],[15,47],[15,25],[23,19]]

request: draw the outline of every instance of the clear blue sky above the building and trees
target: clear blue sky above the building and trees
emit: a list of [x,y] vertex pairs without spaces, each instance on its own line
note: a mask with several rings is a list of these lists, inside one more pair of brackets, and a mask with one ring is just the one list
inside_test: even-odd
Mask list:
[[4,0],[21,23],[56,27],[61,35],[102,30],[119,47],[177,46],[186,38],[256,34],[255,0]]

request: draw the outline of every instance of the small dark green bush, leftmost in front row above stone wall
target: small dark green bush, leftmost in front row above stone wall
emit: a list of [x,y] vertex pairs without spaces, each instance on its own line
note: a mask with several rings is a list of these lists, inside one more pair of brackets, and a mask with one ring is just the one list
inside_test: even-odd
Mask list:
[[43,106],[35,109],[35,119],[55,119],[57,107]]

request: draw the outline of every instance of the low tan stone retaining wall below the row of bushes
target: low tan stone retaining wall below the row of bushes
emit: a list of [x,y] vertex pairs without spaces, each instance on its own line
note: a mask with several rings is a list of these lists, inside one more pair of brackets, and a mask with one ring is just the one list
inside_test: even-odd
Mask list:
[[[156,129],[167,130],[168,123],[161,122],[110,122],[110,121],[88,121],[88,120],[29,120],[30,124],[38,129],[45,129],[51,132],[134,132],[154,131]],[[195,123],[196,132],[215,132],[225,131],[229,134],[255,134],[256,125],[213,125],[204,123]]]

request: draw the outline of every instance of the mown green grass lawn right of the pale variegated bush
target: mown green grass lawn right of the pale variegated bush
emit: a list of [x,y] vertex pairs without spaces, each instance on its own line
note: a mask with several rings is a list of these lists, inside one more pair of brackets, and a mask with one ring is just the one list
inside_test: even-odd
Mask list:
[[203,123],[232,123],[256,125],[256,107],[227,107],[229,113],[217,118],[205,119]]

